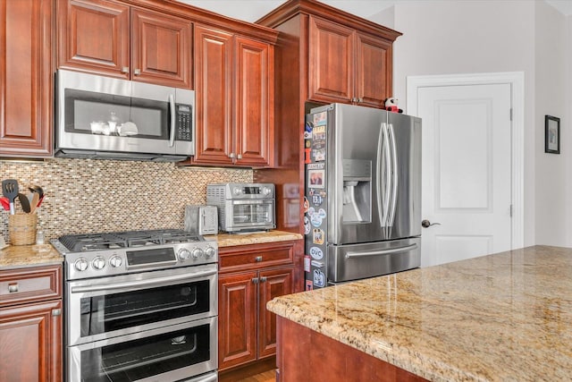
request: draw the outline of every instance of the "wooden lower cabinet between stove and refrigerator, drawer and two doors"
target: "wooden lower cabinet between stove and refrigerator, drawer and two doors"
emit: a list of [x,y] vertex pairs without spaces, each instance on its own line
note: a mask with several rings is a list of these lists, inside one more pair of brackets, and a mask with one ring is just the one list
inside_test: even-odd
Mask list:
[[301,290],[302,244],[302,240],[295,240],[219,248],[221,382],[274,368],[276,315],[266,310],[266,302]]

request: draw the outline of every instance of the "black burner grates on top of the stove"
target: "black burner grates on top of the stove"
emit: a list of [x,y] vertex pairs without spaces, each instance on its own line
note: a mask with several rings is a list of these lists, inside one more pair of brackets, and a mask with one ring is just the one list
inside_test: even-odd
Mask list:
[[205,239],[202,236],[183,230],[166,229],[66,234],[59,237],[59,241],[72,252],[86,252],[90,250],[111,250],[181,242],[204,242]]

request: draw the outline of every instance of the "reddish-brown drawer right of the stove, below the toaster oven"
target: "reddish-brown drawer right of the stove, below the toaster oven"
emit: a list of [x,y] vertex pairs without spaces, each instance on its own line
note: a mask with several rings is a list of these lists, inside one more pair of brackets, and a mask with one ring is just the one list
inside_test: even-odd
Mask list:
[[245,246],[233,247],[232,250],[221,249],[219,267],[221,271],[231,271],[291,264],[294,259],[293,253],[292,243],[277,243],[275,246],[266,245],[264,248]]

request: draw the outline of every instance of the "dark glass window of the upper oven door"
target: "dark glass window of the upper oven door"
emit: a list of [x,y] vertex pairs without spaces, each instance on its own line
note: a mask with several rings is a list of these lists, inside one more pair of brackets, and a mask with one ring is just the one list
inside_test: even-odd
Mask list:
[[209,289],[209,280],[202,280],[82,298],[81,336],[208,312]]

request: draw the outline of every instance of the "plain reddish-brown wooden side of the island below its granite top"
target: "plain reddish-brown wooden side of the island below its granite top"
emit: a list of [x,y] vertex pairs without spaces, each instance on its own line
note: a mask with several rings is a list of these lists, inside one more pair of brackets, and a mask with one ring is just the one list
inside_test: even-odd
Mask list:
[[277,324],[277,382],[426,382],[290,319],[278,317]]

